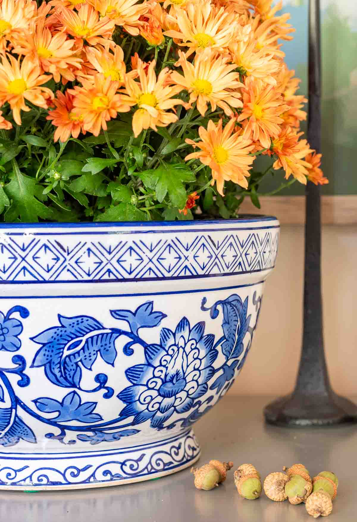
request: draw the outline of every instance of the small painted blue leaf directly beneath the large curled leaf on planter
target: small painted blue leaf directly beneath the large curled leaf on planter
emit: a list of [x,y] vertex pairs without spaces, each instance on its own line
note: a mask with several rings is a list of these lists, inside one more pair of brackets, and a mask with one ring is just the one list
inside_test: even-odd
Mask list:
[[33,402],[40,411],[46,413],[58,412],[57,416],[51,418],[56,422],[79,421],[90,423],[102,420],[99,413],[93,413],[97,402],[83,402],[81,404],[77,392],[68,393],[63,397],[62,402],[49,397],[39,397]]

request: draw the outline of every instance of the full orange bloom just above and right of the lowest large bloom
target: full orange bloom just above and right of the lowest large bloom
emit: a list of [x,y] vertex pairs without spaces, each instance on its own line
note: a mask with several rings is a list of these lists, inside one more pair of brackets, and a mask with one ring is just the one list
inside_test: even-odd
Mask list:
[[[280,114],[289,109],[284,104],[281,92],[261,80],[246,80],[243,90],[243,111],[238,121],[244,122],[244,134],[259,141],[263,148],[270,147],[270,139],[280,134],[279,124],[283,123]],[[247,119],[249,118],[249,120]]]

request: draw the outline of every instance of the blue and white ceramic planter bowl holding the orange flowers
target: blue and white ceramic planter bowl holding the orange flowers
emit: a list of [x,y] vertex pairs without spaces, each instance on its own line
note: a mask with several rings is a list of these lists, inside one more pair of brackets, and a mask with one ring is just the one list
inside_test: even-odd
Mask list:
[[0,226],[0,488],[160,477],[232,385],[277,256],[272,217]]

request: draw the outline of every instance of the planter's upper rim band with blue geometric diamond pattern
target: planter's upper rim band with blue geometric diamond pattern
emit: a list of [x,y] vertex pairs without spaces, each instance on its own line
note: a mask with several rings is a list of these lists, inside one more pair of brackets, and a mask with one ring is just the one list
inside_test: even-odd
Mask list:
[[247,233],[146,232],[137,238],[114,233],[102,234],[99,240],[91,233],[81,234],[78,240],[78,235],[63,232],[8,232],[0,236],[0,283],[171,279],[262,271],[275,264],[278,236],[278,227]]

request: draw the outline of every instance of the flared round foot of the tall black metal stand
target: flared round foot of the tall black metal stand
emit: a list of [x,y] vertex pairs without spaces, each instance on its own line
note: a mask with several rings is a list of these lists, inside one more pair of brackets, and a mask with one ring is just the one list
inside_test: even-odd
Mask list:
[[266,406],[264,417],[277,426],[347,424],[357,422],[357,406],[335,392],[322,396],[292,393]]

